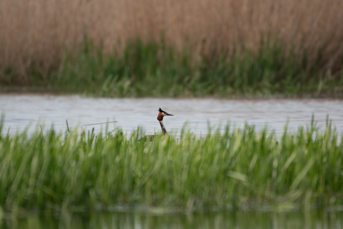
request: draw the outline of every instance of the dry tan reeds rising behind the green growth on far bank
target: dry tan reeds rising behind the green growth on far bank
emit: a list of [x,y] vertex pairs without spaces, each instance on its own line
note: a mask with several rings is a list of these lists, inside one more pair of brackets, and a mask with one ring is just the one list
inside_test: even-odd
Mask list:
[[305,49],[312,62],[320,50],[322,66],[334,70],[342,67],[342,19],[342,0],[0,1],[0,67],[15,66],[28,82],[29,67],[56,67],[84,34],[108,51],[137,36],[158,41],[163,31],[168,45],[195,55],[257,50],[269,36]]

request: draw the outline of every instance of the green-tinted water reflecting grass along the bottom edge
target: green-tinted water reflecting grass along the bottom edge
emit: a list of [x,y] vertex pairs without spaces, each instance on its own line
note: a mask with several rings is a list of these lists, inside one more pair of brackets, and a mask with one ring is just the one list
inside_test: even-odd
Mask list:
[[232,229],[338,229],[343,228],[342,212],[305,211],[275,213],[261,211],[228,211],[210,213],[158,215],[146,212],[93,213],[88,215],[63,212],[58,218],[31,214],[22,218],[0,220],[7,228],[232,228]]

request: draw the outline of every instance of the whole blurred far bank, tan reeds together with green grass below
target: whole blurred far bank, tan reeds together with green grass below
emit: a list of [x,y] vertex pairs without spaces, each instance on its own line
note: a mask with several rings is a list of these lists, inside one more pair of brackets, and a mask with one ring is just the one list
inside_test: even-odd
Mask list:
[[343,1],[0,3],[0,88],[342,96]]

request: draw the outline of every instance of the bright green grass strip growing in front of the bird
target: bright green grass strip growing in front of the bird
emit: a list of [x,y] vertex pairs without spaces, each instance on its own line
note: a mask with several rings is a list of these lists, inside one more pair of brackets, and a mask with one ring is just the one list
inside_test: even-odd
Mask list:
[[0,206],[4,210],[335,207],[343,201],[343,139],[328,124],[276,138],[253,126],[197,137],[138,142],[53,129],[0,136]]

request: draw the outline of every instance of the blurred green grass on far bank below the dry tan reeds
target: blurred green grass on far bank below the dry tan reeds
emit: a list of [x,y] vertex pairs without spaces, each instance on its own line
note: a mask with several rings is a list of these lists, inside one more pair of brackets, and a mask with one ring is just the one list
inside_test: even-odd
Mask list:
[[48,77],[33,72],[32,85],[52,92],[110,97],[343,93],[342,70],[323,72],[320,63],[308,66],[305,51],[299,57],[269,40],[257,52],[237,49],[196,59],[163,41],[137,39],[120,51],[103,54],[101,50],[86,38],[82,50],[67,54]]

